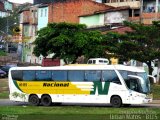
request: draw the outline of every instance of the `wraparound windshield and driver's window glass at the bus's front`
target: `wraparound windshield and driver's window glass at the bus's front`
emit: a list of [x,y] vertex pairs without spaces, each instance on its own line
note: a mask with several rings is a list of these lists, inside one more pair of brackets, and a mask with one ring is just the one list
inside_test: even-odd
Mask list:
[[[130,72],[124,70],[119,70],[119,72],[125,80],[125,83],[129,89],[144,94],[150,93],[150,82],[146,72]],[[128,75],[137,75],[139,77],[142,77],[143,81],[130,78]]]

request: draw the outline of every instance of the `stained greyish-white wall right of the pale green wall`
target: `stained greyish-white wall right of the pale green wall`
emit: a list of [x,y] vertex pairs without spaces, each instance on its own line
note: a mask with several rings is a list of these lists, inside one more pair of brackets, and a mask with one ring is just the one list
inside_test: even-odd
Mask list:
[[122,23],[124,20],[128,20],[128,18],[129,18],[128,10],[107,12],[104,15],[104,23],[105,24]]

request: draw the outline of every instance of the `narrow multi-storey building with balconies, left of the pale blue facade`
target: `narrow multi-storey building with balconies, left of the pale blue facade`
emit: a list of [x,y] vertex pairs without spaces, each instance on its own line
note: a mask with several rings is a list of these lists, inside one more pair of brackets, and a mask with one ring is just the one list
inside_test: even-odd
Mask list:
[[[37,25],[38,25],[38,6],[29,5],[20,11],[20,29],[22,45],[22,61],[37,63],[37,57],[32,54],[36,39]],[[34,60],[34,61],[32,61]]]

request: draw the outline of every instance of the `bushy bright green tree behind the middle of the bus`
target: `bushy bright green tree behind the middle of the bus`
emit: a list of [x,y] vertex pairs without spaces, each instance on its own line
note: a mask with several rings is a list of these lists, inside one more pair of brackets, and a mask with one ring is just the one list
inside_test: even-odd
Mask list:
[[79,56],[102,57],[105,55],[102,34],[87,31],[83,24],[50,23],[38,31],[33,53],[36,56],[54,53],[66,63],[75,63]]

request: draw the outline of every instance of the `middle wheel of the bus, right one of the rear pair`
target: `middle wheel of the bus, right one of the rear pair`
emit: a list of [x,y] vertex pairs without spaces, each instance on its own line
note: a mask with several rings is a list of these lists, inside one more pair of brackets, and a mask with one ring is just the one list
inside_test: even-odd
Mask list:
[[41,98],[41,103],[43,106],[50,106],[52,104],[52,99],[49,95],[43,95]]

